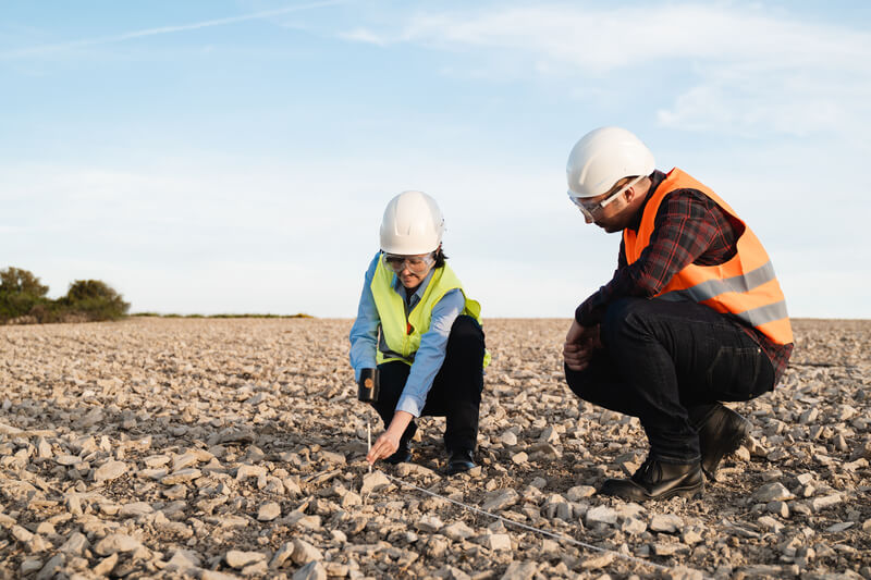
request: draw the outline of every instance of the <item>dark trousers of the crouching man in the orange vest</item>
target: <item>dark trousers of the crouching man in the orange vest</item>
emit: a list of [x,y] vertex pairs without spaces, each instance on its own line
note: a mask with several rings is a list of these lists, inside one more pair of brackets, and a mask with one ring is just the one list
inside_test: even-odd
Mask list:
[[580,372],[565,369],[580,398],[638,417],[651,456],[689,464],[697,429],[721,400],[774,387],[765,353],[726,316],[691,301],[622,298],[600,326],[604,349]]

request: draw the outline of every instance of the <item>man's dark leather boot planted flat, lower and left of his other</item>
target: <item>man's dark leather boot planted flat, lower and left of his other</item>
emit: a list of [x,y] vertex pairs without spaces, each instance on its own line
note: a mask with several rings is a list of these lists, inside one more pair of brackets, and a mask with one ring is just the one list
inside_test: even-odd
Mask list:
[[599,490],[630,502],[665,499],[674,495],[695,497],[704,491],[699,462],[663,464],[648,457],[630,479],[608,479]]

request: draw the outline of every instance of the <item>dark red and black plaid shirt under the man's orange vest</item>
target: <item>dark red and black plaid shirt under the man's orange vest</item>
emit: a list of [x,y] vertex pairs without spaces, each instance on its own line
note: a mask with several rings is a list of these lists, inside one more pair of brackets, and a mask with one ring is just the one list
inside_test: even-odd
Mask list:
[[[651,176],[648,199],[665,178],[661,171]],[[647,200],[629,227],[638,231]],[[617,270],[611,282],[587,298],[575,310],[575,319],[582,326],[601,322],[605,308],[623,296],[655,296],[672,277],[689,266],[715,266],[735,256],[737,240],[744,225],[723,212],[711,198],[698,189],[676,189],[662,200],[654,220],[650,244],[645,260],[626,263],[626,252],[621,240]],[[780,345],[753,329],[733,321],[765,351],[774,367],[774,384],[780,381],[793,344]]]

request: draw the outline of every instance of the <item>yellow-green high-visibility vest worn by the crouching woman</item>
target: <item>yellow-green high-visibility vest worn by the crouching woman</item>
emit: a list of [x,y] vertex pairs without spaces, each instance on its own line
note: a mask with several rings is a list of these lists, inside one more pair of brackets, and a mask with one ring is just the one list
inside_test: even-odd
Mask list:
[[[378,316],[381,319],[381,337],[392,354],[402,357],[391,356],[388,358],[379,348],[377,353],[379,365],[392,360],[402,360],[406,365],[413,362],[414,353],[417,353],[420,347],[420,337],[429,330],[432,308],[447,292],[454,288],[459,288],[466,299],[463,314],[474,318],[478,324],[481,323],[481,305],[466,296],[463,284],[450,266],[444,264],[433,270],[424,296],[408,312],[408,318],[405,317],[405,301],[393,288],[393,277],[394,273],[388,270],[384,262],[379,259],[370,288]],[[484,353],[483,366],[487,367],[489,362],[490,354]]]

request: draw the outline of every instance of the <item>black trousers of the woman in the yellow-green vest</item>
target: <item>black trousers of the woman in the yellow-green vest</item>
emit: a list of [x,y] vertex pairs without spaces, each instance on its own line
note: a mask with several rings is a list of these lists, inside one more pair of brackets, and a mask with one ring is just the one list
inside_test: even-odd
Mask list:
[[[475,449],[478,441],[478,409],[483,391],[483,330],[468,316],[461,316],[451,326],[447,351],[442,368],[436,374],[432,388],[421,416],[445,417],[444,445],[449,451]],[[372,407],[384,421],[384,428],[393,419],[410,367],[395,360],[378,366],[381,392]],[[408,442],[417,431],[414,420],[402,435]]]

